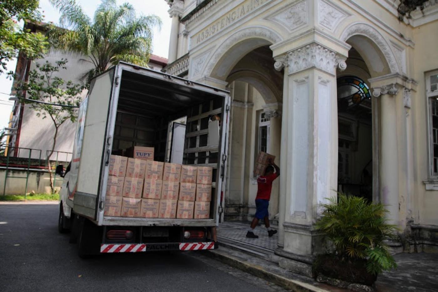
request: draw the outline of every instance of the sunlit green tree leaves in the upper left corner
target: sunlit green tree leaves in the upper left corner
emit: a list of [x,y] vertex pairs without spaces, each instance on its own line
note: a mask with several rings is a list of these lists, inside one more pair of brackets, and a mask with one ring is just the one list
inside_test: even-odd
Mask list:
[[[39,1],[7,0],[0,2],[0,74],[7,70],[7,61],[21,53],[28,59],[42,57],[49,44],[41,33],[29,33],[18,25],[20,20],[41,21]],[[12,75],[12,71],[8,74]]]

